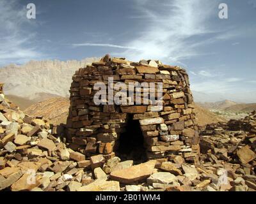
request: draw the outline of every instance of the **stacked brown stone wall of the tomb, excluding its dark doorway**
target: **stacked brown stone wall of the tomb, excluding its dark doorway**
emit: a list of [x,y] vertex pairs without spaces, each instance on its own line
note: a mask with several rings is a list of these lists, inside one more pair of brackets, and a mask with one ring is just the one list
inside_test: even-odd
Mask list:
[[[93,85],[97,82],[107,85],[109,77],[113,77],[114,84],[163,83],[163,106],[95,105],[93,96],[97,91]],[[106,55],[76,71],[72,80],[67,138],[73,147],[83,149],[86,156],[115,154],[120,134],[132,115],[140,122],[148,159],[181,155],[193,163],[198,158],[195,104],[186,70],[159,61],[131,62]]]

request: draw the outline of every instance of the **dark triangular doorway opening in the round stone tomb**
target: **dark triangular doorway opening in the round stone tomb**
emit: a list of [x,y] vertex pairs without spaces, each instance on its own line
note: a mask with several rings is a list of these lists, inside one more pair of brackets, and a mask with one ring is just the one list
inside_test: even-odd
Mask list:
[[126,131],[120,134],[116,156],[122,161],[133,160],[135,164],[147,161],[139,120],[132,120],[132,115],[128,115],[125,129]]

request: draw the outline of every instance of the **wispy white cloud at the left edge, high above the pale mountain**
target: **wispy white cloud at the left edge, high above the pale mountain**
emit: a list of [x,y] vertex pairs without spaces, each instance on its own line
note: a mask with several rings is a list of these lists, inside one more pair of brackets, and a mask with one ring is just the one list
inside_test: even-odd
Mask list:
[[28,24],[31,23],[26,18],[26,7],[13,0],[0,1],[0,65],[42,57],[32,45],[35,33],[24,29]]

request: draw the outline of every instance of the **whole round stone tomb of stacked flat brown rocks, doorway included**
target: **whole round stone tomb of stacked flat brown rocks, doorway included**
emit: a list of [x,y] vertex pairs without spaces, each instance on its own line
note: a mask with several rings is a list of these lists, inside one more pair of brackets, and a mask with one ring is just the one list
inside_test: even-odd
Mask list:
[[[72,80],[67,119],[67,141],[72,149],[88,157],[183,157],[191,163],[198,159],[195,104],[184,69],[160,61],[131,62],[106,55],[77,70]],[[125,87],[132,83],[134,87],[143,83],[156,86],[134,88],[136,92],[131,94]],[[159,94],[159,90],[163,92]],[[136,103],[138,98],[141,103]]]

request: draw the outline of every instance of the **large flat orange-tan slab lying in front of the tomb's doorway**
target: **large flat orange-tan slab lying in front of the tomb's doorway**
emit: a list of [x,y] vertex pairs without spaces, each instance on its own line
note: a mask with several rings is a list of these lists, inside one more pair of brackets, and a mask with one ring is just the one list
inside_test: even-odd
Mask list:
[[113,171],[110,174],[112,180],[118,180],[124,184],[132,184],[138,180],[147,179],[154,170],[156,161],[148,161],[146,163],[131,166],[124,170]]

